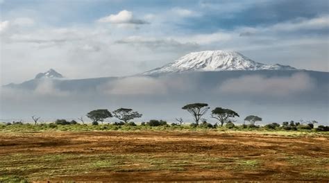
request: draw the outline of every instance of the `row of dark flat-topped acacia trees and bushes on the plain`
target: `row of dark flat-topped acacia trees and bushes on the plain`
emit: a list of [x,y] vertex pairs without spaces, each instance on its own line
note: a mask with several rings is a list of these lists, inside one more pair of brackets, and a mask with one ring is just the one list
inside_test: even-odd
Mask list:
[[[244,118],[243,125],[235,125],[235,117],[239,117],[239,114],[234,110],[226,109],[223,107],[215,107],[210,112],[210,117],[212,119],[216,119],[217,123],[211,124],[207,122],[207,119],[204,119],[203,116],[210,110],[207,103],[191,103],[182,107],[183,110],[189,112],[194,119],[194,123],[191,123],[189,126],[192,128],[219,128],[225,125],[228,129],[252,129],[252,128],[261,128],[260,125],[256,125],[255,123],[258,121],[262,121],[260,116],[249,115]],[[100,110],[92,110],[86,114],[86,116],[92,120],[92,125],[99,125],[106,121],[108,118],[115,117],[119,119],[119,122],[112,123],[112,125],[128,125],[128,126],[137,126],[132,120],[136,118],[142,117],[142,114],[139,112],[135,112],[133,109],[129,108],[119,108],[113,112],[110,112],[106,109]],[[40,117],[32,116],[35,125],[37,121],[39,121]],[[84,123],[83,116],[78,118],[81,123]],[[171,126],[182,126],[183,119],[177,118],[176,123],[171,123]],[[248,125],[246,125],[246,122]],[[300,122],[283,122],[281,125],[279,123],[270,123],[264,126],[264,128],[268,130],[312,130],[314,128],[314,124],[318,123],[317,121],[300,121]],[[15,125],[15,124],[23,124],[22,121],[6,123],[6,125]],[[50,125],[77,125],[79,124],[77,121],[67,121],[65,119],[58,119],[51,123]],[[158,121],[158,120],[150,120],[149,122],[142,122],[142,126],[169,126],[167,121]],[[316,129],[317,131],[329,131],[328,126],[319,125]]]

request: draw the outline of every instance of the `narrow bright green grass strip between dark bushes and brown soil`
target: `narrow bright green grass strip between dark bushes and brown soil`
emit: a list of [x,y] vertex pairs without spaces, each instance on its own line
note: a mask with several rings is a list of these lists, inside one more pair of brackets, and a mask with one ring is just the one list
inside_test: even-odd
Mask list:
[[84,131],[142,131],[142,130],[153,130],[153,131],[187,131],[187,132],[253,132],[264,135],[284,135],[287,137],[299,137],[299,136],[319,136],[319,135],[329,135],[329,132],[317,132],[316,130],[267,130],[266,128],[242,128],[241,126],[233,129],[228,129],[225,127],[219,128],[193,128],[189,125],[165,125],[165,126],[155,126],[151,127],[149,125],[53,125],[53,124],[39,124],[39,125],[3,125],[0,124],[0,132],[48,132],[48,131],[67,131],[67,132],[84,132]]

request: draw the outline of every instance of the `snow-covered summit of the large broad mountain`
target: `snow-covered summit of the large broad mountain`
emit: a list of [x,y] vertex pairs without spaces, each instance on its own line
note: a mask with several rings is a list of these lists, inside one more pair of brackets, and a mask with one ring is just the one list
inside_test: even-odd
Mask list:
[[144,75],[159,73],[180,73],[185,71],[256,71],[256,70],[296,70],[281,64],[262,64],[235,51],[200,51],[166,64],[163,67],[146,71]]

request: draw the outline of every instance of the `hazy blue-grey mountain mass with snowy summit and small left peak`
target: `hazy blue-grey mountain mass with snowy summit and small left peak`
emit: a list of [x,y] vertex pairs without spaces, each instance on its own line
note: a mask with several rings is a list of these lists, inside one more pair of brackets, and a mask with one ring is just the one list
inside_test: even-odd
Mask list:
[[[184,59],[190,62],[182,65]],[[60,79],[62,75],[50,69],[3,86],[0,117],[72,118],[100,107],[131,107],[143,114],[143,121],[182,117],[189,122],[181,107],[201,102],[232,108],[242,116],[241,123],[244,116],[257,114],[264,123],[303,118],[328,124],[329,72],[261,64],[228,51],[190,53],[176,62],[171,64],[176,67],[162,68],[167,72],[153,72],[170,74],[144,76]],[[214,122],[209,112],[205,118]]]

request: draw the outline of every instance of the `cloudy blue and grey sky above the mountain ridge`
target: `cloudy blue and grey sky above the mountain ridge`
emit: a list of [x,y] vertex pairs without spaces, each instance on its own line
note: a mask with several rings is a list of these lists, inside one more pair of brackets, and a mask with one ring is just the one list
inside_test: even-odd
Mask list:
[[192,51],[329,71],[327,0],[0,0],[1,85],[129,76]]

